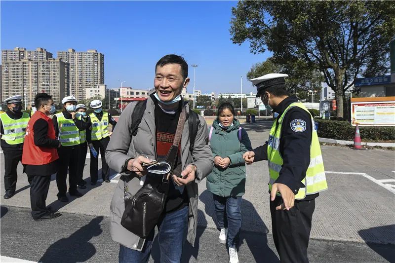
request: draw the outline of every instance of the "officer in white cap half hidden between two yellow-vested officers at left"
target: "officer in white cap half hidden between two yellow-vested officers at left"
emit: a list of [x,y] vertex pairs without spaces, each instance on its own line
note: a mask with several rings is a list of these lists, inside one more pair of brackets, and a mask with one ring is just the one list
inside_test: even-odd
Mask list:
[[83,169],[85,167],[85,159],[86,153],[88,149],[88,144],[86,142],[86,129],[92,129],[90,124],[90,118],[86,115],[86,110],[88,108],[84,104],[78,104],[76,108],[76,117],[83,121],[84,130],[79,130],[79,137],[81,138],[79,144],[79,157],[78,157],[78,168],[77,168],[77,177],[78,177],[78,186],[81,189],[86,188],[86,181],[83,180]]

